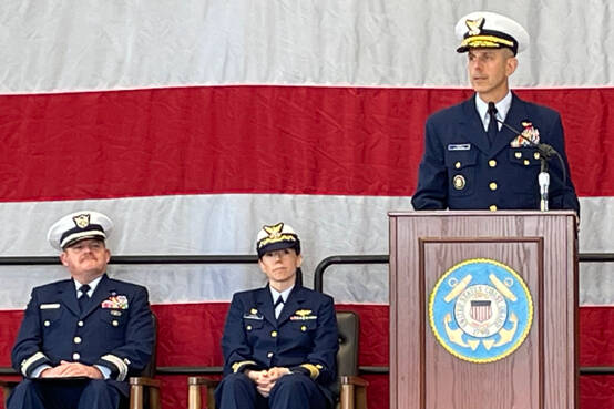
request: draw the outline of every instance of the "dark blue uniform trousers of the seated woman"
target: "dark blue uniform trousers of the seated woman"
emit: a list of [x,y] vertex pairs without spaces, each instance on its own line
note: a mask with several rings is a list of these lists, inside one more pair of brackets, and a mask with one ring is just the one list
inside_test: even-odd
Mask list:
[[320,388],[303,374],[285,375],[277,380],[268,398],[256,390],[245,374],[224,377],[215,391],[221,409],[327,409],[329,402]]

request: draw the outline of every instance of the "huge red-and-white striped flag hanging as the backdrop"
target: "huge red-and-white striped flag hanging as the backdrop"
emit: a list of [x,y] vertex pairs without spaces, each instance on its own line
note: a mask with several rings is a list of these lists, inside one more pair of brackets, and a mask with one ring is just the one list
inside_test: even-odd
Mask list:
[[[531,34],[518,94],[556,109],[581,196],[580,250],[614,252],[614,9],[585,0],[4,0],[0,7],[0,254],[55,255],[60,216],[116,225],[115,255],[255,254],[263,224],[319,260],[388,253],[389,211],[410,208],[433,111],[471,95],[453,25],[473,10]],[[219,366],[236,290],[256,266],[112,266],[146,285],[158,366]],[[32,286],[61,267],[0,267],[0,366]],[[387,266],[332,267],[325,290],[362,319],[360,364],[388,365]],[[614,365],[614,268],[580,272],[580,364]],[[370,407],[388,407],[369,376]],[[165,409],[185,377],[162,377]],[[583,377],[581,406],[614,407]]]

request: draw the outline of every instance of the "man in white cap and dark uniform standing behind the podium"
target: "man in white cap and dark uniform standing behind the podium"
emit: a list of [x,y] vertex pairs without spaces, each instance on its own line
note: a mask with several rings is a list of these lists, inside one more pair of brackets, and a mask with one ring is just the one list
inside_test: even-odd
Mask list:
[[516,53],[529,43],[526,31],[510,18],[479,11],[460,19],[456,33],[475,94],[427,120],[413,208],[539,209],[542,154],[534,144],[546,143],[562,160],[549,161],[550,208],[580,214],[559,113],[509,88]]

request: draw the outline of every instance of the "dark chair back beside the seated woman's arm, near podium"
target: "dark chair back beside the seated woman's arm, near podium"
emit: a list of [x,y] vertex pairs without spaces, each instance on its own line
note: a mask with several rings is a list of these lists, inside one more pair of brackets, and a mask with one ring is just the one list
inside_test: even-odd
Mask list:
[[[358,375],[358,333],[360,319],[354,311],[337,311],[339,329],[339,351],[337,352],[337,377]],[[334,386],[334,392],[339,396],[339,382]]]

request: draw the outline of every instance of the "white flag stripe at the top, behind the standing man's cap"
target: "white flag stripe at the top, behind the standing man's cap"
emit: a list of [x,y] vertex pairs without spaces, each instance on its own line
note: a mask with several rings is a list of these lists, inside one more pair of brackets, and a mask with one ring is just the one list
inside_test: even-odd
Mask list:
[[[477,1],[37,1],[0,10],[0,93],[219,84],[467,86]],[[514,86],[612,86],[607,1],[500,2],[531,33]]]

